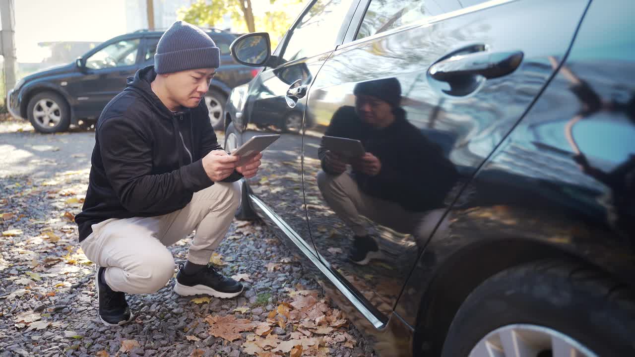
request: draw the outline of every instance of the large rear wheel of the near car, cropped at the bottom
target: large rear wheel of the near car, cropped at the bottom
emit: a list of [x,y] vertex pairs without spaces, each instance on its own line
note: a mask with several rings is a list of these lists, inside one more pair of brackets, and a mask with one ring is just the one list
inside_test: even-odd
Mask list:
[[[549,339],[579,347],[575,356],[635,356],[634,301],[631,290],[580,264],[550,260],[507,269],[467,297],[442,356],[574,355],[549,347]],[[517,354],[525,347],[533,352]]]

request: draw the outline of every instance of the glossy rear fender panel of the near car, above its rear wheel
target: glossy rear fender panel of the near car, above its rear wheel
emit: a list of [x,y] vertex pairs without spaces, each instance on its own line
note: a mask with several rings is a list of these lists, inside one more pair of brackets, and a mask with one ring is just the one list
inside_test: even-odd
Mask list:
[[635,286],[633,11],[591,3],[558,74],[425,248],[396,307],[422,354],[438,353],[476,285],[511,266],[570,259]]

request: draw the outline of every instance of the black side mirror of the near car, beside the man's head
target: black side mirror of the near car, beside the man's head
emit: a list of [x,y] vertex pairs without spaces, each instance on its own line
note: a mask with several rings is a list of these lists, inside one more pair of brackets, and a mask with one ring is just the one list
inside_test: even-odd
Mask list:
[[271,55],[271,41],[267,32],[254,32],[238,37],[229,48],[234,60],[251,67],[269,67],[276,60]]

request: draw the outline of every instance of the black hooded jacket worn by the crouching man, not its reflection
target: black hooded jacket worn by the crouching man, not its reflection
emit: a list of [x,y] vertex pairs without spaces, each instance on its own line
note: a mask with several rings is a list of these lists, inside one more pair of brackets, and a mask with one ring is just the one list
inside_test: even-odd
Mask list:
[[[75,217],[79,241],[107,219],[180,210],[194,192],[213,185],[201,159],[222,147],[204,101],[171,112],[150,88],[154,77],[154,66],[129,77],[97,121],[86,201]],[[234,172],[224,181],[240,178]]]

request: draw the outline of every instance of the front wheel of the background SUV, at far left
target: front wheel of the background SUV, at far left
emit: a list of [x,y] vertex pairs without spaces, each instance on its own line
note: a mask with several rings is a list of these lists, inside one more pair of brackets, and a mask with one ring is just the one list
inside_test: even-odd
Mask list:
[[29,100],[27,118],[40,133],[66,131],[70,125],[70,107],[58,93],[43,91]]

